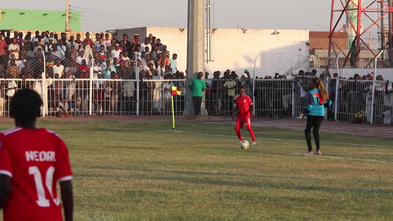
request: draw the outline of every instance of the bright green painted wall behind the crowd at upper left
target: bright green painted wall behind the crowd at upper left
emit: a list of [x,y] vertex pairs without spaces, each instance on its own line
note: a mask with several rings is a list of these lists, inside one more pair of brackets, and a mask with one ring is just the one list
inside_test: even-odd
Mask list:
[[[0,29],[64,31],[66,27],[65,11],[1,9],[1,12]],[[70,17],[72,31],[81,31],[81,12],[71,11]]]

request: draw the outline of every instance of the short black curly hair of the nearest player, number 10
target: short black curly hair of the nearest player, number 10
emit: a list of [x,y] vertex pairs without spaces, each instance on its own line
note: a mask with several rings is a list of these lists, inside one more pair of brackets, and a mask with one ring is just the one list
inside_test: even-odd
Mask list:
[[31,89],[18,90],[11,99],[9,114],[20,122],[31,122],[41,114],[42,99]]

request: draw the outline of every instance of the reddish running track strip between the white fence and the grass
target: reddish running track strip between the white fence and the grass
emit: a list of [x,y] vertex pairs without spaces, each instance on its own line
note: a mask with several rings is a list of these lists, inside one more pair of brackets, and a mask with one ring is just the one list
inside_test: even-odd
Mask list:
[[[45,120],[116,120],[125,122],[147,122],[147,121],[171,121],[171,116],[78,116],[78,117],[46,117],[40,118]],[[1,121],[11,121],[11,118],[0,118]],[[235,125],[236,122],[231,118],[224,117],[187,117],[176,116],[178,122],[203,122],[203,123],[219,123]],[[306,120],[299,120],[298,118],[285,118],[279,120],[270,120],[263,118],[253,118],[252,125],[257,127],[275,127],[283,129],[301,130],[305,129]],[[393,127],[384,125],[371,124],[353,124],[344,122],[324,121],[320,131],[357,134],[362,136],[378,136],[393,138]]]

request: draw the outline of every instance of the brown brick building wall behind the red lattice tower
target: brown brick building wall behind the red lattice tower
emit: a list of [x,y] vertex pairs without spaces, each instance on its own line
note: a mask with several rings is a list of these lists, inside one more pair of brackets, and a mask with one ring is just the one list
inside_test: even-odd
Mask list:
[[[329,31],[310,31],[309,39],[310,39],[310,50],[326,50],[329,49]],[[334,35],[334,42],[342,49],[348,49],[348,33],[347,32],[338,32]]]

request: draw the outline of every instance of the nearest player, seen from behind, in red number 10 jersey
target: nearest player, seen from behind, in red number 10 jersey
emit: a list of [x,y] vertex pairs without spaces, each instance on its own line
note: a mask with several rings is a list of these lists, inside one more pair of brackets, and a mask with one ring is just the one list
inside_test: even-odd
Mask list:
[[61,221],[60,183],[66,221],[73,220],[72,171],[59,135],[35,127],[42,100],[22,89],[11,100],[14,129],[0,133],[0,209],[4,221]]

